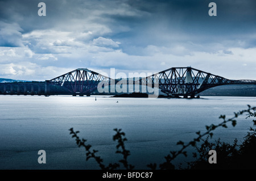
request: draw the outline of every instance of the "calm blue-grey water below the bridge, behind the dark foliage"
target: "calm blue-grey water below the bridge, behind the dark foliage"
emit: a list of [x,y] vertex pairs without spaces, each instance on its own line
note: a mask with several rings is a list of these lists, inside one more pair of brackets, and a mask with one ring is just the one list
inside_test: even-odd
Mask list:
[[[84,149],[69,134],[71,127],[99,150],[105,165],[121,159],[112,137],[114,128],[122,128],[131,151],[129,162],[135,169],[148,169],[148,163],[162,163],[169,151],[177,150],[177,141],[191,141],[205,125],[220,123],[220,115],[232,117],[247,104],[256,106],[256,98],[0,95],[0,169],[99,169],[94,160],[85,161]],[[237,120],[234,128],[229,124],[214,131],[212,140],[241,142],[253,124],[245,116]],[[46,151],[46,164],[38,163],[39,150]]]

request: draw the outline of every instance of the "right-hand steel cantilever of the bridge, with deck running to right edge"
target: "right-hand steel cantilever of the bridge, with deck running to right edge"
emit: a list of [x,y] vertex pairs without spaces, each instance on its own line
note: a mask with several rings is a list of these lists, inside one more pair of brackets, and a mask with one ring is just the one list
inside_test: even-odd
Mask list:
[[[158,81],[155,81],[155,80]],[[221,85],[256,85],[254,80],[231,80],[191,67],[170,68],[141,80],[151,80],[159,89],[170,96],[194,97],[196,94]]]

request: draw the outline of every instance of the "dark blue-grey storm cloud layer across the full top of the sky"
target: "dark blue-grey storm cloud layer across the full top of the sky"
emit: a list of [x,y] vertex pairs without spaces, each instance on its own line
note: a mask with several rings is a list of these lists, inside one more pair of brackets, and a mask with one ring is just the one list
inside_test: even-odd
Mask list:
[[[49,28],[76,31],[79,24],[73,20],[97,23],[110,28],[112,33],[106,36],[116,36],[119,40],[130,36],[130,44],[139,46],[176,42],[175,33],[184,33],[191,41],[205,43],[255,31],[256,11],[253,7],[256,8],[256,2],[253,0],[44,1],[47,5],[44,18],[37,15],[39,2],[0,1],[0,20],[18,23],[22,33]],[[208,15],[209,2],[217,4],[216,17]],[[184,41],[182,37],[181,41]]]

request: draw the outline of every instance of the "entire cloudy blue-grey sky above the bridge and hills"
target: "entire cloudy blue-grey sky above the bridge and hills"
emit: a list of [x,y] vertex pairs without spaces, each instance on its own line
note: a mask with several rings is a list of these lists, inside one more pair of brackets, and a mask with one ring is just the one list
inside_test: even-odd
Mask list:
[[[46,3],[46,16],[38,3]],[[217,16],[209,16],[210,2]],[[0,77],[192,66],[256,79],[255,0],[0,0]]]

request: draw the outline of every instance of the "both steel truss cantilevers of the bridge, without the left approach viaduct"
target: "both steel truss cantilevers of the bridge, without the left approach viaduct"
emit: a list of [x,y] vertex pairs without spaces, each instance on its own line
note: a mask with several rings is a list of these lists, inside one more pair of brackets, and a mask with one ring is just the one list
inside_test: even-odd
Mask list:
[[254,80],[226,79],[191,67],[170,68],[132,82],[112,79],[88,69],[76,69],[46,82],[47,85],[66,87],[73,95],[90,95],[97,90],[100,82],[116,85],[118,81],[122,82],[122,85],[133,83],[156,87],[169,96],[185,98],[194,97],[204,90],[221,85],[256,85]]

